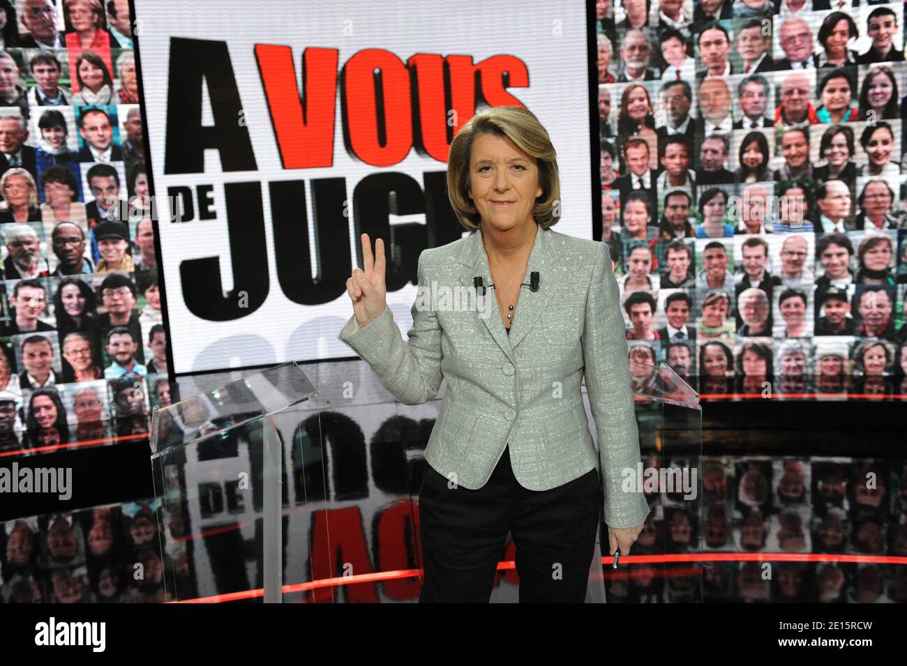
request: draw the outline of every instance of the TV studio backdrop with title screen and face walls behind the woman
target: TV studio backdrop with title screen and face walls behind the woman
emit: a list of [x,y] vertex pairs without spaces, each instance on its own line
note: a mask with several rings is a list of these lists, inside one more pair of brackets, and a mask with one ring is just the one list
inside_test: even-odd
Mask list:
[[610,246],[647,465],[698,475],[590,601],[907,600],[903,4],[821,4],[0,2],[0,481],[72,478],[0,493],[0,600],[261,602],[276,565],[286,602],[417,601],[444,389],[396,402],[336,334],[367,233],[405,335],[463,234],[450,141],[505,104],[555,230]]

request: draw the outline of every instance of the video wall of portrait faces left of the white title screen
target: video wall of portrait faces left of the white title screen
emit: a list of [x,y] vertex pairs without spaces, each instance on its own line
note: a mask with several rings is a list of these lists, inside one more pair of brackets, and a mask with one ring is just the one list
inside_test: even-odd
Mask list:
[[0,6],[0,460],[147,438],[170,389],[129,4]]

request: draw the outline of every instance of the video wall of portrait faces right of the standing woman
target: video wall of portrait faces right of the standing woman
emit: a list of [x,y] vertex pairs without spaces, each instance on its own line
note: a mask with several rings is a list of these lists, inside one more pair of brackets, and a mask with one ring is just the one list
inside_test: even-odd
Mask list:
[[903,3],[596,3],[631,358],[704,399],[903,398]]

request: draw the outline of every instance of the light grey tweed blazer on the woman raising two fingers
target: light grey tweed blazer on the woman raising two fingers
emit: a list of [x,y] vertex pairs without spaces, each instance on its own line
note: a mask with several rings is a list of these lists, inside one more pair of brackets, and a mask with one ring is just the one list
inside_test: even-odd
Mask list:
[[608,246],[538,227],[526,285],[533,271],[540,274],[539,291],[522,287],[509,335],[491,288],[484,311],[447,307],[441,295],[431,309],[429,292],[440,294],[439,286],[463,292],[476,275],[486,287],[493,284],[482,231],[473,231],[419,256],[408,342],[389,307],[365,327],[351,316],[337,338],[405,404],[433,399],[446,378],[425,460],[473,489],[485,485],[508,443],[513,474],[531,490],[561,486],[596,467],[580,391],[585,373],[605,522],[641,525],[649,514],[645,495],[622,483],[622,472],[639,464],[639,432]]

